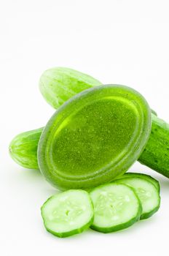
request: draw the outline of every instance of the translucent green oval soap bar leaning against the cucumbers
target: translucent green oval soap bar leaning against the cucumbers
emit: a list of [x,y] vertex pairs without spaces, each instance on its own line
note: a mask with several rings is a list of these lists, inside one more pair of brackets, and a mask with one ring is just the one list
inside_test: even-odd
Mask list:
[[77,94],[50,118],[38,148],[39,167],[55,187],[95,187],[125,173],[146,146],[151,110],[127,86]]

